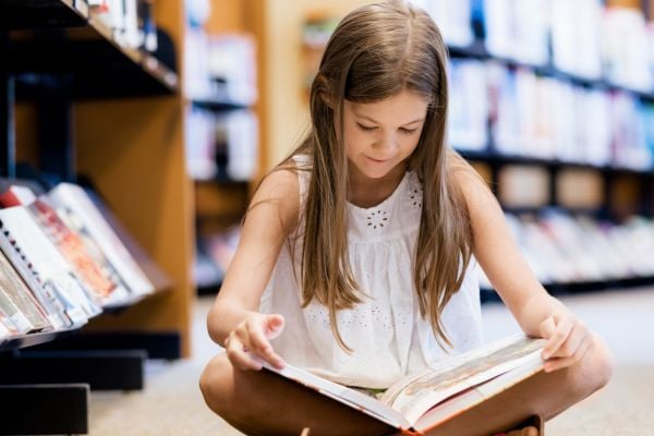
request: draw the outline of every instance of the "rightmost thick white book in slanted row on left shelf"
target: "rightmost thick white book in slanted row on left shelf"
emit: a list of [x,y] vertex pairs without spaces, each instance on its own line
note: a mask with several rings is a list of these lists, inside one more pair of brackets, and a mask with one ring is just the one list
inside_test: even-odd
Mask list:
[[58,210],[65,209],[63,214],[74,214],[81,220],[134,298],[154,292],[153,283],[81,186],[60,183],[49,192],[48,197]]

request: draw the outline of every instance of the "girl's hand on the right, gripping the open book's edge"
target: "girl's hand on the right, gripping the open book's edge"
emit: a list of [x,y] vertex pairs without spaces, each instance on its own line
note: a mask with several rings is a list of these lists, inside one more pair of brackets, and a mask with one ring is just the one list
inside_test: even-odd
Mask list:
[[595,346],[591,330],[566,308],[555,311],[541,323],[541,336],[547,339],[543,349],[546,373],[581,361]]

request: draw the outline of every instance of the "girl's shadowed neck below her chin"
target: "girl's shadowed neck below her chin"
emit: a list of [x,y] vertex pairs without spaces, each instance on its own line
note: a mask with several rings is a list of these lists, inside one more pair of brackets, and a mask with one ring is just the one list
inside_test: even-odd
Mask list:
[[358,207],[368,208],[384,202],[395,192],[407,172],[407,167],[403,164],[398,165],[380,179],[366,177],[350,162],[348,171],[348,202]]

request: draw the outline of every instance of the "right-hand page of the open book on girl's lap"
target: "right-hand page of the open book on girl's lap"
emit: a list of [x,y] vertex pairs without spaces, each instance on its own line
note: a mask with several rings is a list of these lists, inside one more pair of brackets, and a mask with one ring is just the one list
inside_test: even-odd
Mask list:
[[485,380],[505,374],[525,362],[541,361],[544,339],[512,337],[445,362],[413,379],[393,385],[382,401],[400,412],[411,424],[440,401]]

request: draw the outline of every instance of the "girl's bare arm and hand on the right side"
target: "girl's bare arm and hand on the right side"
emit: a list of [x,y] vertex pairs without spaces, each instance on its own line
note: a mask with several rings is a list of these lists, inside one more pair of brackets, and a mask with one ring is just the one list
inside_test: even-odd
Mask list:
[[552,360],[545,370],[581,360],[595,343],[590,330],[538,282],[484,181],[472,169],[455,174],[472,221],[474,255],[522,330],[548,339],[543,358]]

